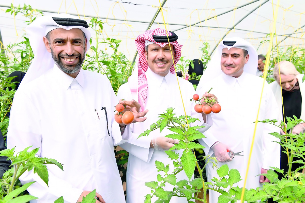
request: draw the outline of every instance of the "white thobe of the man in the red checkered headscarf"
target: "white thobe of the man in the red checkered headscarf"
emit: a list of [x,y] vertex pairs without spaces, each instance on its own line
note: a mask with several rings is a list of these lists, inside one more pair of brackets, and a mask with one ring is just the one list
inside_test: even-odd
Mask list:
[[[173,171],[173,161],[170,160],[164,151],[155,150],[150,148],[150,141],[158,136],[165,136],[172,134],[173,132],[164,129],[161,133],[160,130],[152,131],[148,136],[141,137],[138,136],[149,129],[152,123],[155,123],[159,114],[165,112],[168,107],[175,108],[174,113],[176,116],[185,115],[183,110],[183,105],[181,101],[180,91],[178,87],[178,82],[175,74],[168,73],[165,77],[155,74],[148,68],[145,72],[147,83],[148,83],[148,98],[145,104],[145,110],[148,109],[146,114],[147,119],[143,123],[131,124],[132,138],[128,142],[120,145],[125,150],[129,152],[128,164],[127,164],[127,203],[143,203],[145,195],[151,194],[151,188],[145,186],[145,182],[157,181],[157,174],[160,173],[164,177],[163,172],[157,172],[155,161],[160,161],[170,165],[170,172]],[[194,110],[195,102],[190,102],[195,90],[192,84],[182,78],[179,78],[179,85],[181,88],[182,98],[185,105],[186,114],[192,117],[199,118],[203,121],[202,115],[198,114]],[[124,98],[127,100],[135,99],[132,98],[128,83],[122,85],[117,93],[118,98]],[[208,124],[211,124],[211,119],[208,118]],[[204,124],[203,122],[197,122],[196,125],[204,125],[210,127],[210,125]],[[205,131],[207,128],[203,129],[201,132]],[[180,156],[182,150],[177,151]],[[179,180],[188,180],[184,171],[181,171],[176,175],[177,182]],[[167,184],[164,187],[167,191],[172,191],[173,186]],[[154,196],[152,202],[156,201],[158,198]],[[185,203],[186,198],[173,197],[170,203]]]

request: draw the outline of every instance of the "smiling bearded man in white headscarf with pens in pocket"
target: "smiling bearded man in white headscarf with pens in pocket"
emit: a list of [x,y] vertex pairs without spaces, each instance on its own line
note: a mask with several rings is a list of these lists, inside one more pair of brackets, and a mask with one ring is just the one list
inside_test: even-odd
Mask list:
[[86,28],[86,21],[68,14],[42,16],[27,27],[35,57],[15,94],[7,145],[17,152],[39,147],[37,156],[56,159],[64,169],[47,165],[48,186],[33,171],[20,177],[22,184],[36,181],[27,189],[38,197],[32,202],[60,196],[81,202],[94,189],[96,202],[125,202],[113,146],[131,131],[122,124],[121,135],[114,122],[118,100],[107,77],[81,69],[90,46]]

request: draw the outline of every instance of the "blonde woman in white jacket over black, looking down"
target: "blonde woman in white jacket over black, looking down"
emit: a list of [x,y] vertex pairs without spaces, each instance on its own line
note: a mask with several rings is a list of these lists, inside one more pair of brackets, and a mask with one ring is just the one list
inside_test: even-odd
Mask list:
[[[281,76],[280,76],[281,75]],[[302,82],[304,74],[300,74],[296,67],[290,61],[280,61],[274,66],[273,77],[274,82],[270,83],[272,92],[274,93],[278,110],[279,117],[287,122],[286,117],[293,118],[293,115],[298,119],[305,121],[305,82]],[[282,85],[282,88],[281,88]],[[282,93],[281,93],[282,92]],[[283,103],[282,103],[282,94],[283,94]],[[303,96],[303,100],[302,100]],[[283,112],[284,106],[284,112]],[[285,117],[284,117],[285,115]],[[292,129],[293,134],[300,134],[305,132],[305,123],[297,124],[296,127]],[[281,135],[284,135],[285,132],[281,131]],[[280,169],[284,170],[284,173],[288,171],[288,158],[287,154],[283,151],[286,151],[281,147],[281,166]],[[297,159],[293,159],[296,161]],[[291,171],[295,171],[299,166],[302,166],[300,163],[293,163]],[[278,173],[279,178],[282,178],[282,174]],[[268,202],[274,202],[272,199]]]

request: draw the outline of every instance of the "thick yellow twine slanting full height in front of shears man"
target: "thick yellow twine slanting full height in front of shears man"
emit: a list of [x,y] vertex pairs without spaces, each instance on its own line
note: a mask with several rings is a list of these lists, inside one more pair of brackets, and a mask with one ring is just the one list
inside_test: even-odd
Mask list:
[[[248,173],[249,173],[250,160],[251,160],[251,155],[252,155],[253,145],[254,145],[254,140],[255,140],[255,133],[256,133],[257,123],[258,123],[258,115],[259,115],[259,112],[260,112],[260,104],[261,104],[261,101],[262,101],[264,84],[265,84],[265,80],[266,80],[266,77],[267,77],[267,67],[269,66],[269,63],[270,63],[270,54],[269,53],[270,53],[270,51],[273,47],[273,36],[274,36],[274,32],[275,32],[276,17],[278,15],[278,7],[279,7],[279,1],[277,1],[275,13],[273,11],[273,30],[270,34],[270,42],[269,42],[269,47],[268,47],[267,57],[266,57],[266,62],[265,62],[265,67],[264,67],[264,75],[263,75],[264,82],[263,82],[262,92],[260,94],[260,103],[259,103],[259,107],[258,107],[258,110],[257,110],[257,117],[256,117],[256,121],[255,121],[253,138],[252,138],[252,143],[251,143],[251,148],[250,148],[250,153],[249,153],[249,158],[248,158],[248,165],[247,165],[247,170],[246,170],[245,182],[244,182],[244,186],[242,188],[242,194],[241,194],[241,197],[240,197],[241,202],[244,202],[243,198],[244,198],[244,194],[245,194],[246,181],[247,181],[247,176],[248,176]],[[272,0],[272,10],[273,10],[273,0]]]

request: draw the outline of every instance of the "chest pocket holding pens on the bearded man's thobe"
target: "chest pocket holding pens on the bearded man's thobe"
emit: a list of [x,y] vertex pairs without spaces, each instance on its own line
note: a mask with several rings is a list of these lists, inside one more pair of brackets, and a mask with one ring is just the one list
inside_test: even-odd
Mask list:
[[[106,108],[102,107],[101,110],[96,110],[91,115],[93,117],[93,123],[92,123],[93,126],[92,126],[91,134],[95,138],[105,140],[110,135]],[[111,125],[111,121],[110,121],[110,125]]]

